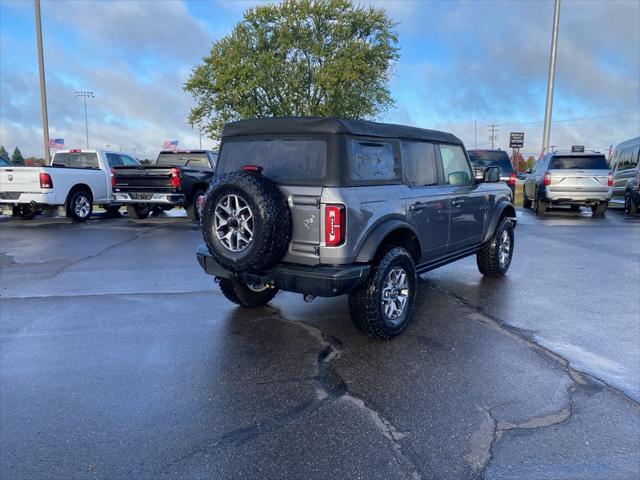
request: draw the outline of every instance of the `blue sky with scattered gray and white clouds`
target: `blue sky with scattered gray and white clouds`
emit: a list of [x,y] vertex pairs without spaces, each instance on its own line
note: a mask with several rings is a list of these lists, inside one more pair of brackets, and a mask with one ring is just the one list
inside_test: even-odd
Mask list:
[[[142,158],[165,139],[196,147],[182,85],[256,3],[43,1],[50,135],[84,146],[74,91],[92,90],[93,147]],[[552,1],[364,3],[398,22],[396,106],[381,121],[447,130],[467,148],[490,146],[495,123],[498,146],[524,131],[524,153],[539,152]],[[603,150],[640,135],[640,2],[562,0],[553,115],[560,147]],[[42,156],[41,132],[33,2],[0,0],[0,144]]]

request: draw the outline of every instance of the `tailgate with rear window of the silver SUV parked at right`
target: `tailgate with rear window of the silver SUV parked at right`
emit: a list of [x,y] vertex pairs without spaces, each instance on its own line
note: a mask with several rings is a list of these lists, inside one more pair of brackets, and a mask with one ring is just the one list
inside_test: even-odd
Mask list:
[[551,183],[547,188],[568,197],[574,192],[606,193],[609,190],[609,166],[604,155],[554,155],[547,170]]

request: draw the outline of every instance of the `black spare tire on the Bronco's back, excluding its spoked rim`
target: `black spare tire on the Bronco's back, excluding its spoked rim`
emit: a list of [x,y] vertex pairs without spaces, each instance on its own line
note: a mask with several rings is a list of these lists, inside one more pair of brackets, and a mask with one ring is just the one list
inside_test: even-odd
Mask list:
[[[214,213],[226,195],[238,195],[253,215],[253,233],[241,251],[227,249],[215,232]],[[280,190],[260,173],[232,172],[217,177],[207,190],[200,225],[216,261],[232,272],[259,271],[284,257],[291,239],[291,212]]]

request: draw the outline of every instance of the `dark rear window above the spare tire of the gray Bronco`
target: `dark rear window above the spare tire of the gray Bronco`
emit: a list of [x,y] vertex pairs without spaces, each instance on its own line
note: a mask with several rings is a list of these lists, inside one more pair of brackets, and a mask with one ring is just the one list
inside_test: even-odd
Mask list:
[[220,153],[220,173],[237,172],[245,165],[262,167],[275,181],[322,181],[327,169],[324,140],[239,140],[226,141]]

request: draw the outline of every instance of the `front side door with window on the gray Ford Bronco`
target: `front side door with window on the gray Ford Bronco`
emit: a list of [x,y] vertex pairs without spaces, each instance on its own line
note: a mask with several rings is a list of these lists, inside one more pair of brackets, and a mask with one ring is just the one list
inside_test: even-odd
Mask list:
[[449,194],[449,244],[447,253],[477,245],[484,233],[486,198],[475,184],[473,170],[460,145],[440,145],[444,184]]

